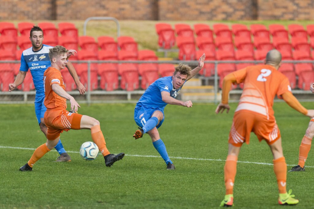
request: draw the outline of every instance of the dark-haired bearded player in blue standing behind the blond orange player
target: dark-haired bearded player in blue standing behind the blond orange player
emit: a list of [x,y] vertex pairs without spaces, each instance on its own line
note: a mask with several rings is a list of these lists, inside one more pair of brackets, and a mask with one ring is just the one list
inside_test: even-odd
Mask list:
[[[40,129],[47,138],[47,126],[45,125],[44,121],[46,107],[44,105],[45,89],[43,79],[45,70],[51,66],[48,53],[49,49],[52,48],[52,46],[43,44],[43,40],[44,34],[42,29],[38,26],[34,26],[30,30],[30,41],[32,43],[32,47],[23,51],[21,55],[21,66],[19,74],[16,76],[14,83],[9,84],[9,91],[14,90],[17,86],[23,83],[26,73],[28,69],[30,69],[30,73],[32,74],[34,86],[36,89],[35,113]],[[69,50],[68,57],[74,55],[75,52],[75,50]],[[68,62],[67,68],[75,81],[78,91],[80,92],[80,94],[84,94],[85,87],[79,81],[78,75],[70,62]],[[56,162],[71,161],[71,157],[64,150],[61,140],[59,140],[55,148],[60,154]]]

